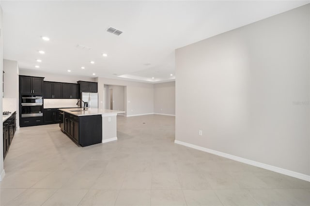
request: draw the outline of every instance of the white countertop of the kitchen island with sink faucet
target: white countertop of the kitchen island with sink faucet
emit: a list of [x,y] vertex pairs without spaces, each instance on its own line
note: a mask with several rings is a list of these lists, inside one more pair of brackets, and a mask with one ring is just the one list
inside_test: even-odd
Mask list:
[[[98,108],[87,108],[85,111],[83,108],[66,108],[59,109],[66,113],[75,115],[75,116],[90,116],[90,115],[117,115],[118,113],[125,113],[124,111],[110,110],[110,109],[98,109]],[[78,111],[77,111],[78,110]]]

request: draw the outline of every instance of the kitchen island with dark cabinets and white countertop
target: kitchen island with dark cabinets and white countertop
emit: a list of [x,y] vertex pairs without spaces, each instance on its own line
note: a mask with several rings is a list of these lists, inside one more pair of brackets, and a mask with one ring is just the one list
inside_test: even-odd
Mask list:
[[117,114],[124,111],[97,108],[65,108],[64,133],[78,145],[85,147],[117,140]]

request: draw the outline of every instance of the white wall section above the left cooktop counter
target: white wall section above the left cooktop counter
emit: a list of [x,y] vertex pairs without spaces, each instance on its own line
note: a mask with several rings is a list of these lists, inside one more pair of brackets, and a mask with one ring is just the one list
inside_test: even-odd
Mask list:
[[[17,61],[3,59],[3,111],[16,111],[16,125],[19,125],[18,103],[18,63]],[[18,126],[17,126],[18,129]]]

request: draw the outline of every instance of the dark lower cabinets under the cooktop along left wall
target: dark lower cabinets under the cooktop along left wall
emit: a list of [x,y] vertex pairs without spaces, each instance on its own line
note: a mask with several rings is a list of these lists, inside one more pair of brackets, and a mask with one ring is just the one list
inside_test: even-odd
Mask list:
[[3,159],[5,158],[9,147],[11,146],[14,134],[16,132],[16,112],[3,122]]

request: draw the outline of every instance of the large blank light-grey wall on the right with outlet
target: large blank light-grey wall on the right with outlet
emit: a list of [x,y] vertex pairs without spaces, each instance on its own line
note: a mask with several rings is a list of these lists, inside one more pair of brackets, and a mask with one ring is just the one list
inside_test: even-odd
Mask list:
[[309,177],[309,32],[308,4],[177,49],[176,140]]

